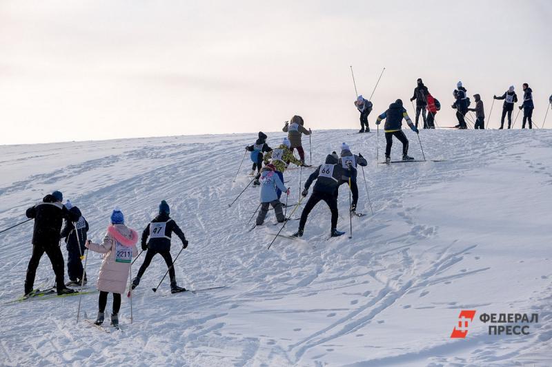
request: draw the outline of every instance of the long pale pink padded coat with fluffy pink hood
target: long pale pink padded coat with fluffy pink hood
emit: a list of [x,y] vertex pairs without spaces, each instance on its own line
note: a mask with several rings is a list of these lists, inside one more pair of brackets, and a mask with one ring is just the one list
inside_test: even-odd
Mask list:
[[125,293],[132,258],[137,255],[138,233],[124,224],[112,224],[101,244],[88,242],[88,249],[103,253],[98,275],[99,291]]

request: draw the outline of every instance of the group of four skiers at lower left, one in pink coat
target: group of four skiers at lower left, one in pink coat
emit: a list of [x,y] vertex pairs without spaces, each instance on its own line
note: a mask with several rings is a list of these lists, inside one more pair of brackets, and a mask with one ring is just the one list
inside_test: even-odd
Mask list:
[[[34,219],[32,235],[32,255],[28,263],[25,280],[24,297],[33,297],[41,293],[34,289],[34,277],[40,259],[44,253],[50,258],[56,277],[57,295],[77,293],[70,286],[83,286],[88,280],[83,269],[83,254],[86,249],[103,254],[103,260],[98,274],[97,289],[99,290],[98,315],[95,324],[103,323],[108,293],[113,294],[111,325],[119,325],[119,308],[121,294],[128,284],[130,265],[133,258],[139,256],[136,244],[139,240],[134,229],[126,226],[124,214],[115,209],[110,216],[110,225],[101,243],[95,243],[87,238],[90,229],[88,221],[80,209],[68,200],[63,205],[63,194],[60,191],[46,195],[42,202],[27,209],[26,216]],[[63,221],[65,226],[63,229]],[[132,280],[130,289],[135,289],[150,265],[152,258],[159,253],[164,258],[170,277],[171,293],[179,293],[186,289],[177,285],[174,262],[170,255],[170,240],[175,233],[182,242],[182,249],[188,247],[184,232],[170,218],[170,207],[165,200],[159,205],[159,214],[146,226],[141,235],[141,249],[146,251],[146,258],[141,264],[137,276]],[[63,254],[59,247],[64,238],[68,250],[69,282],[64,283]],[[141,254],[141,253],[140,253]]]

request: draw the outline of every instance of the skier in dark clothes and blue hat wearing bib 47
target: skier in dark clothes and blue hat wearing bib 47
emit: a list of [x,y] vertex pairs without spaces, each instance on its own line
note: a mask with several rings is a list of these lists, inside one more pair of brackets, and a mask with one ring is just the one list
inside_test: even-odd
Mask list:
[[[170,207],[165,200],[159,204],[159,215],[153,218],[148,224],[144,232],[142,232],[142,251],[146,252],[146,258],[138,270],[138,274],[132,280],[132,289],[135,289],[140,284],[140,279],[148,266],[150,266],[152,258],[159,253],[165,260],[165,264],[168,267],[168,275],[170,277],[170,293],[184,292],[186,289],[177,285],[177,278],[175,275],[175,267],[172,266],[172,256],[170,255],[170,238],[174,232],[182,241],[182,248],[188,247],[188,240],[184,232],[178,227],[175,220],[170,218]],[[149,241],[148,237],[150,238]],[[147,241],[147,244],[146,244]]]

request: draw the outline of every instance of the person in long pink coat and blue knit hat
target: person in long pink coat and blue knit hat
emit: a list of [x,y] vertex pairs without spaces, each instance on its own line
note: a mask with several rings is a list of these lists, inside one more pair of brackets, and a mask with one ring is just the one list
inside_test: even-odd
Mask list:
[[103,253],[103,260],[98,275],[99,310],[95,324],[103,324],[103,313],[108,302],[108,293],[113,293],[113,311],[111,325],[119,326],[119,309],[121,308],[121,293],[126,290],[128,273],[132,257],[137,254],[138,233],[126,227],[123,213],[115,209],[111,214],[111,225],[101,244],[90,240],[86,247],[90,251]]

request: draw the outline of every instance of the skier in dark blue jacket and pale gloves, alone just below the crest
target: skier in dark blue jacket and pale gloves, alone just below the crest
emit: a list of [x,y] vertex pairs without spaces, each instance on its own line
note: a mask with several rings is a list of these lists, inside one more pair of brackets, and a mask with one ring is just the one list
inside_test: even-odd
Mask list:
[[402,160],[414,160],[411,156],[408,156],[408,138],[402,132],[402,119],[406,120],[408,126],[412,129],[413,132],[418,134],[417,127],[414,126],[410,117],[406,113],[406,109],[402,107],[402,101],[397,99],[395,103],[391,103],[386,112],[377,116],[376,125],[380,125],[382,120],[385,119],[385,162],[391,163],[391,147],[393,146],[393,136],[399,139],[402,143]]

